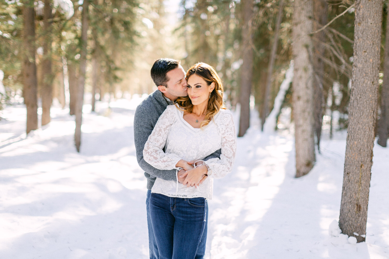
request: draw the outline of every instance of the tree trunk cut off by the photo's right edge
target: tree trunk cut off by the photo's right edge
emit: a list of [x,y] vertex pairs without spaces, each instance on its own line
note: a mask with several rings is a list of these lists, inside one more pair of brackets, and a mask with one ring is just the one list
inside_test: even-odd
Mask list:
[[389,134],[389,13],[386,15],[384,83],[381,89],[381,115],[378,121],[378,145],[386,147]]

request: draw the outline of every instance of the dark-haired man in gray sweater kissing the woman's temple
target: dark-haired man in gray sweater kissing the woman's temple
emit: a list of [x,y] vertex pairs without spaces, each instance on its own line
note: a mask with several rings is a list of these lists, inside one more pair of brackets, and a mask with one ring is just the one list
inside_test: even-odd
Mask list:
[[[152,94],[142,101],[137,107],[134,116],[134,141],[135,149],[137,151],[137,160],[139,166],[145,171],[145,177],[147,178],[147,197],[146,197],[146,211],[147,211],[147,227],[149,229],[149,250],[150,259],[158,259],[158,247],[154,238],[154,232],[152,230],[150,213],[149,213],[149,199],[151,194],[151,188],[154,184],[156,177],[162,178],[168,181],[176,181],[176,170],[158,170],[147,162],[143,158],[143,148],[150,136],[152,130],[159,116],[165,111],[166,107],[178,97],[187,96],[187,87],[185,79],[185,71],[180,65],[180,61],[175,59],[158,59],[154,62],[151,68],[151,78],[157,86]],[[204,160],[210,158],[220,158],[220,150],[210,155]],[[207,167],[199,166],[192,170],[201,170],[203,174],[207,173]],[[179,177],[184,174],[184,170],[178,172],[178,181],[182,184],[185,180],[184,177]],[[205,176],[206,177],[206,176]],[[204,180],[205,178],[203,178]],[[203,181],[202,180],[202,181]],[[208,208],[207,208],[208,210]],[[208,213],[206,216],[207,220]],[[202,239],[197,250],[196,259],[203,258],[205,254],[205,241],[207,239],[207,229],[204,229]]]

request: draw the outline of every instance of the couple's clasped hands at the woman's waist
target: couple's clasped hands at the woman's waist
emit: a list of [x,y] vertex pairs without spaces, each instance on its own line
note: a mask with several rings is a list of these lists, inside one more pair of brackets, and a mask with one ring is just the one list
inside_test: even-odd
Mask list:
[[207,167],[205,165],[202,165],[202,162],[198,163],[200,164],[197,167],[194,167],[193,164],[196,162],[196,160],[193,161],[185,161],[180,160],[175,165],[176,167],[182,167],[183,169],[179,170],[177,177],[178,181],[187,187],[189,186],[199,186],[202,184],[205,179],[207,179]]

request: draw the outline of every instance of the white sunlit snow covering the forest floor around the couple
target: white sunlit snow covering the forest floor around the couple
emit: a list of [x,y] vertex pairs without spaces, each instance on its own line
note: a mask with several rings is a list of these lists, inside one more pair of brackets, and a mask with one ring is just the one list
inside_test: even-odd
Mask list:
[[[133,115],[144,96],[84,106],[25,134],[23,105],[0,111],[0,258],[148,258],[146,180]],[[238,122],[237,114],[235,122]],[[389,258],[387,148],[374,146],[366,242],[340,233],[345,132],[323,131],[314,169],[294,178],[288,130],[261,133],[258,114],[238,138],[233,172],[214,183],[207,259]]]

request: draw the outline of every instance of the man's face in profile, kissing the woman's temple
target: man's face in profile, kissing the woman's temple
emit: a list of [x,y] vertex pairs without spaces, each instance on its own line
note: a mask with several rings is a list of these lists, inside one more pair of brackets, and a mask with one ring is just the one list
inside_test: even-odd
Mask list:
[[[187,87],[185,79],[185,71],[182,66],[170,70],[166,73],[167,78],[169,79],[166,83],[167,87],[164,87],[165,91],[162,91],[166,97],[169,99],[177,99],[177,97],[187,96]],[[175,98],[174,98],[175,97]]]

